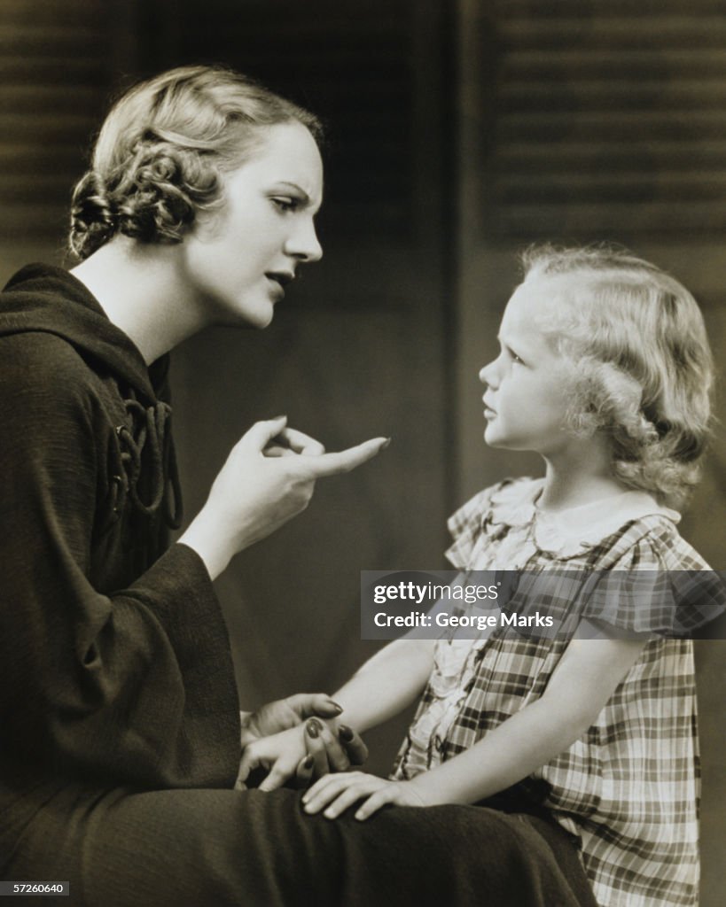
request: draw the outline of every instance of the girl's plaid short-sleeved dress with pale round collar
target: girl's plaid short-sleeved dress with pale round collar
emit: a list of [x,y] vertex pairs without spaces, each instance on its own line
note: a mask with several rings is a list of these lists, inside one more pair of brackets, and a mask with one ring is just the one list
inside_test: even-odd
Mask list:
[[[446,552],[455,567],[618,571],[612,575],[621,583],[621,571],[667,578],[665,571],[708,570],[677,532],[678,513],[650,495],[623,493],[604,514],[598,503],[563,517],[536,511],[542,486],[507,480],[457,511]],[[631,632],[668,629],[667,608],[629,608],[626,595],[604,589],[591,616]],[[568,602],[555,594],[552,604]],[[566,646],[566,639],[499,627],[479,639],[440,640],[392,777],[412,777],[456,756],[540,697]],[[577,836],[602,907],[695,905],[700,787],[692,642],[651,639],[594,725],[513,792]]]

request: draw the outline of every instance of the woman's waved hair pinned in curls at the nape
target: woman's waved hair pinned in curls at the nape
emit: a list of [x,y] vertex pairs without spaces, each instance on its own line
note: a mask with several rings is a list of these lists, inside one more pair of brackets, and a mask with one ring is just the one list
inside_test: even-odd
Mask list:
[[312,113],[219,66],[183,66],[136,85],[113,105],[75,187],[71,249],[88,258],[118,233],[181,242],[197,213],[221,199],[221,173],[286,122],[320,141]]

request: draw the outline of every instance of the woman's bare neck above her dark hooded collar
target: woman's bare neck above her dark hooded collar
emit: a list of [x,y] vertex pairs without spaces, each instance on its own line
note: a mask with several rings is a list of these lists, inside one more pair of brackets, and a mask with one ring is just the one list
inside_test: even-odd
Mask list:
[[178,257],[177,246],[144,246],[120,236],[71,271],[147,365],[206,327],[179,277]]

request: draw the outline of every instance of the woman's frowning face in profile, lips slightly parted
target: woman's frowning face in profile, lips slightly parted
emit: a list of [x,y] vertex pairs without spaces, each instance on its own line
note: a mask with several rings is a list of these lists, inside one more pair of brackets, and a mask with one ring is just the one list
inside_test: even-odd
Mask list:
[[267,327],[299,265],[322,249],[318,146],[299,122],[271,126],[250,158],[223,176],[223,204],[182,243],[184,281],[204,320]]

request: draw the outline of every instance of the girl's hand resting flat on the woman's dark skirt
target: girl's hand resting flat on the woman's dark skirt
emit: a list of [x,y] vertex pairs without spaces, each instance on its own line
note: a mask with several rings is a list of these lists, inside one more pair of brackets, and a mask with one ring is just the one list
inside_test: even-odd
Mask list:
[[343,775],[326,775],[312,785],[302,802],[306,813],[319,813],[328,819],[337,819],[349,806],[365,800],[356,811],[356,818],[363,821],[387,803],[397,806],[427,806],[414,781],[387,781],[363,772],[346,772]]

